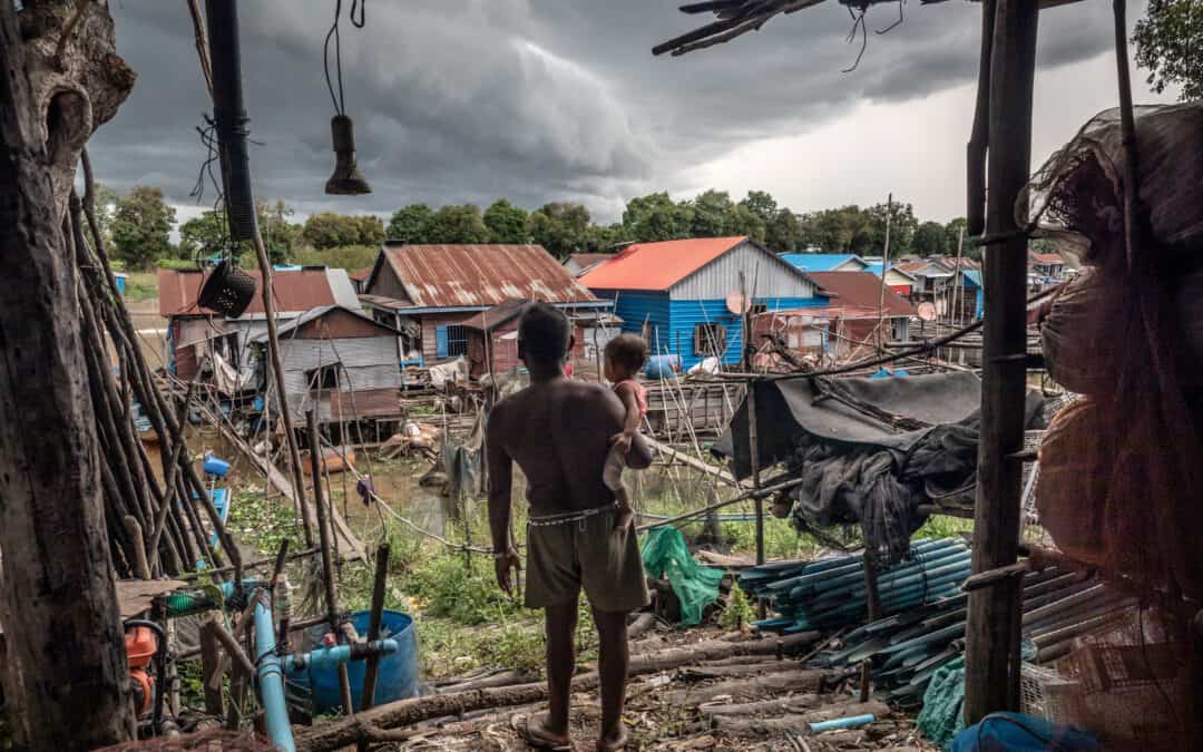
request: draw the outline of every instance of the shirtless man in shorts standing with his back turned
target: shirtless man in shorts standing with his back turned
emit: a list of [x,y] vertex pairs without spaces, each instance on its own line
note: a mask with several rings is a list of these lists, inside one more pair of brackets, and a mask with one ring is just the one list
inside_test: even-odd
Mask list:
[[[627,686],[627,614],[647,605],[647,586],[634,525],[617,528],[614,492],[602,480],[610,437],[622,431],[622,403],[599,384],[564,378],[571,349],[568,319],[533,303],[518,324],[518,357],[531,386],[503,399],[488,418],[488,522],[497,582],[510,593],[521,559],[510,538],[512,463],[527,478],[526,605],[544,609],[550,712],[518,728],[535,747],[568,750],[570,681],[576,664],[576,602],[581,588],[593,609],[600,644],[602,752],[622,748]],[[640,436],[628,466],[641,469],[652,455]]]

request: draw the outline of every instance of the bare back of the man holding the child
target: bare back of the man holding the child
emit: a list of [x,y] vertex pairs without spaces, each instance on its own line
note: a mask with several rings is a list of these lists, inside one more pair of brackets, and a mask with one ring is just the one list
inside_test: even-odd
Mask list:
[[593,509],[614,501],[602,481],[622,404],[598,384],[555,379],[503,399],[490,418],[498,442],[527,478],[533,514]]

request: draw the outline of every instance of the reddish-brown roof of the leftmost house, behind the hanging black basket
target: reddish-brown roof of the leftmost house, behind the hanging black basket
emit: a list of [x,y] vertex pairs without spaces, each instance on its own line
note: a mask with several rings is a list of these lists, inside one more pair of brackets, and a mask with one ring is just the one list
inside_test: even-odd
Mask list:
[[[342,270],[331,270],[343,274]],[[251,298],[245,315],[263,313],[263,298],[260,290],[263,286],[262,274],[255,271],[247,271],[255,278],[255,297]],[[196,304],[196,296],[201,291],[201,285],[209,278],[209,271],[205,272],[177,272],[173,270],[159,270],[159,315],[206,315],[213,312],[206,310]],[[355,301],[355,292],[350,290],[350,283],[343,277],[343,284],[348,285],[346,292],[351,303]],[[331,288],[330,274],[325,268],[304,268],[295,271],[272,272],[272,288],[275,291],[275,313],[303,313],[319,306],[334,306],[339,302],[336,291]],[[345,297],[345,296],[344,296]]]

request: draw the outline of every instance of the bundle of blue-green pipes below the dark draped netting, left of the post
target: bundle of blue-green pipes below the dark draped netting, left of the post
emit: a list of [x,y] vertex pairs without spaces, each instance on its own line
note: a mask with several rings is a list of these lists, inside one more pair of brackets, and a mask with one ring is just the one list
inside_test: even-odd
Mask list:
[[[955,596],[971,574],[968,546],[960,539],[921,539],[911,558],[878,572],[882,616]],[[817,562],[775,562],[740,575],[745,592],[768,598],[777,616],[755,622],[763,630],[831,630],[865,621],[867,588],[864,557]]]

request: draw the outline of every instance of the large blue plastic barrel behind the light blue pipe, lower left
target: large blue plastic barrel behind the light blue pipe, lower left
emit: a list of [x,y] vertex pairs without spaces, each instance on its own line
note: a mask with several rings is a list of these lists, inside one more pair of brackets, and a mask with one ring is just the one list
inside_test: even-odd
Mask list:
[[[351,614],[351,623],[355,624],[355,630],[360,633],[360,636],[367,638],[369,618],[371,614],[367,611]],[[321,645],[321,635],[327,630],[325,626],[310,629],[310,643]],[[420,664],[417,630],[414,627],[414,620],[401,611],[385,611],[380,620],[380,636],[397,640],[399,647],[397,652],[380,658],[374,703],[383,705],[393,700],[417,697]],[[351,661],[346,664],[346,675],[351,682],[351,701],[355,704],[356,711],[360,710],[360,699],[363,695],[365,671],[367,671],[367,661]],[[290,674],[286,679],[289,683],[308,687],[314,715],[343,709],[343,695],[338,687],[338,669],[309,669],[300,674]]]

